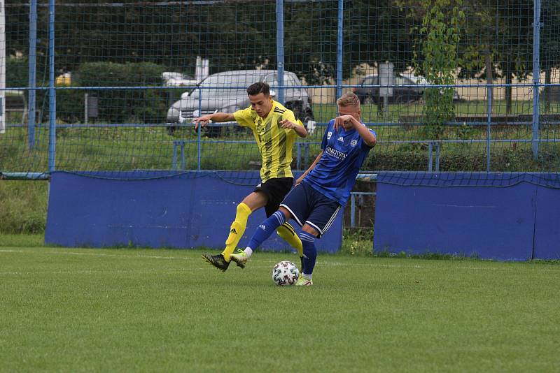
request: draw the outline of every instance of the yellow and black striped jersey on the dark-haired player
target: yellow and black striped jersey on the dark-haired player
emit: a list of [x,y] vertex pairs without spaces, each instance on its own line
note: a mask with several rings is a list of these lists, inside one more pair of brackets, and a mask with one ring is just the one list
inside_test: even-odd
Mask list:
[[276,101],[272,101],[272,109],[266,118],[257,115],[253,108],[237,110],[233,113],[239,126],[247,126],[253,130],[255,140],[262,156],[260,178],[262,182],[277,177],[293,177],[290,163],[292,163],[292,148],[297,133],[293,129],[283,129],[280,121],[288,119],[302,126],[302,122],[295,120],[292,110]]

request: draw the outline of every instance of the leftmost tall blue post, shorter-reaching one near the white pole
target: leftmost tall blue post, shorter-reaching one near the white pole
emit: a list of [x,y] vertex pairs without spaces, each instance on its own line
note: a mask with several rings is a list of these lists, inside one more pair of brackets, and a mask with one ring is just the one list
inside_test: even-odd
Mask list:
[[35,147],[36,112],[36,71],[37,71],[37,0],[29,1],[29,108],[27,110],[27,147]]

